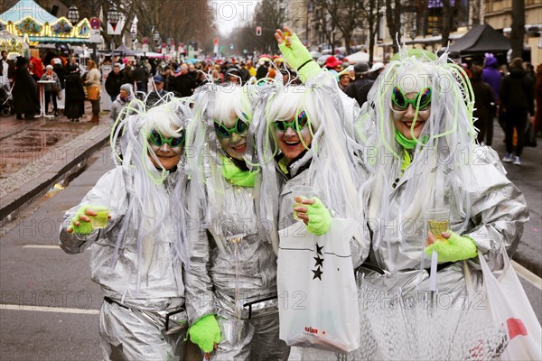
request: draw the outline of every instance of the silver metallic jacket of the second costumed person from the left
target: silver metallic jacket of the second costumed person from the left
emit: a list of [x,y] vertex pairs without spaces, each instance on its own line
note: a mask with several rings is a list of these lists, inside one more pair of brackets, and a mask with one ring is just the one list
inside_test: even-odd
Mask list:
[[[254,190],[228,184],[218,214],[207,218],[212,224],[199,210],[199,236],[189,240],[191,264],[185,274],[191,323],[207,314],[245,319],[243,304],[276,296],[276,255],[265,223],[257,219]],[[276,309],[272,302],[258,303]]]

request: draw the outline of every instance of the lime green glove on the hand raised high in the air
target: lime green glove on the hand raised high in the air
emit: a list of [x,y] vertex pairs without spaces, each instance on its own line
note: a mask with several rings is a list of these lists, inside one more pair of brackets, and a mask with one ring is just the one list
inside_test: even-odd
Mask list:
[[[278,48],[282,52],[286,62],[297,71],[297,75],[303,83],[321,70],[297,35],[291,34],[288,37],[288,45],[286,45],[286,42],[283,42],[282,44],[278,44]],[[299,69],[300,67],[301,69]]]

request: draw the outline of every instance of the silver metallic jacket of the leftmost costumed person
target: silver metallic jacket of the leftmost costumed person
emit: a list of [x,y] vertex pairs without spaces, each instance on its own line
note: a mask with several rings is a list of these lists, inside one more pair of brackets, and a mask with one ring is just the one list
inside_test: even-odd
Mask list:
[[[90,247],[92,280],[110,299],[139,310],[179,309],[184,304],[184,285],[182,264],[173,260],[173,219],[166,219],[156,234],[145,236],[141,264],[137,260],[135,236],[130,236],[130,230],[120,245],[117,261],[114,261],[130,180],[131,175],[120,168],[102,176],[79,205],[66,212],[61,226],[61,248],[68,254],[78,254]],[[170,175],[166,182],[172,180]],[[107,222],[107,228],[94,230],[89,235],[67,233],[71,218],[85,204],[109,208],[112,218]]]

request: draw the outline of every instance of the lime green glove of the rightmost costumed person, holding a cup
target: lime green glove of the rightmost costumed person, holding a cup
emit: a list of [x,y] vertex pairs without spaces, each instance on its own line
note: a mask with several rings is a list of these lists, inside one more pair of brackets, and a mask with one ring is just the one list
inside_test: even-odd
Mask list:
[[431,256],[433,251],[438,255],[438,262],[455,262],[478,255],[476,244],[469,236],[459,236],[450,231],[450,238],[437,238],[433,245],[425,247],[425,255]]

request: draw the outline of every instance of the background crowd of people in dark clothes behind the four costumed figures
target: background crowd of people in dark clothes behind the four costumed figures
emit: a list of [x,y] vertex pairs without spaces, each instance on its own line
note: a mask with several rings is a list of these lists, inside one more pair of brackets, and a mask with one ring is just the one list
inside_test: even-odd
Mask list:
[[[44,114],[59,116],[63,113],[71,121],[77,122],[84,116],[84,100],[88,97],[92,105],[91,123],[99,121],[99,97],[108,96],[112,103],[117,102],[117,110],[118,106],[126,103],[126,97],[119,99],[120,88],[124,84],[133,87],[135,97],[143,98],[153,93],[151,100],[156,102],[169,92],[175,97],[191,97],[197,88],[209,82],[246,83],[253,77],[261,81],[275,79],[277,74],[282,74],[285,84],[301,83],[295,69],[278,55],[262,56],[257,60],[232,58],[196,62],[114,57],[104,61],[104,64],[112,61],[113,70],[108,74],[101,73],[103,64],[89,60],[85,69],[79,66],[76,57],[59,56],[51,51],[43,59],[18,59],[17,64],[14,60],[7,60],[7,53],[3,51],[1,61],[2,84],[14,85],[14,114],[18,119],[23,116],[32,119],[40,114],[42,109],[35,84],[40,80],[51,81],[43,85]],[[370,88],[387,66],[379,61],[372,65],[366,61],[351,65],[348,57],[341,56],[329,56],[320,65],[336,76],[339,88],[348,97],[356,99],[360,106],[367,101]],[[535,73],[531,64],[516,59],[510,62],[507,69],[491,53],[486,54],[479,63],[461,65],[472,81],[479,143],[491,146],[493,124],[497,120],[505,133],[506,154],[502,161],[520,165],[524,136],[518,134],[525,133],[528,122],[533,124],[536,134],[542,133],[542,112],[535,114],[535,98],[538,102],[542,101],[542,65]],[[102,75],[106,79],[104,88],[107,95],[99,94]],[[152,84],[150,89],[149,84]],[[118,112],[110,114],[113,115],[110,118],[116,120],[114,116]]]

